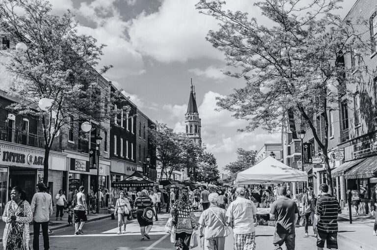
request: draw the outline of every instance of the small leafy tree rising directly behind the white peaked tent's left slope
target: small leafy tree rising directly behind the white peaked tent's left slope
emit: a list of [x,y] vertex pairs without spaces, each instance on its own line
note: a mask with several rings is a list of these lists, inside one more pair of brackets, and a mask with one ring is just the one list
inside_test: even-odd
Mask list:
[[229,171],[230,182],[233,183],[237,178],[237,174],[248,167],[255,165],[254,150],[237,149],[237,161],[227,164],[224,169]]

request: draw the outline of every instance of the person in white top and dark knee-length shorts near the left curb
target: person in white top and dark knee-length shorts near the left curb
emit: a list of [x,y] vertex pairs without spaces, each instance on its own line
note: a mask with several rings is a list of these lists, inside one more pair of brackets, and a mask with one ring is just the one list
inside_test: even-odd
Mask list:
[[84,226],[86,219],[86,200],[85,200],[85,194],[84,193],[84,186],[80,186],[79,193],[76,194],[76,197],[74,197],[74,208],[73,213],[75,215],[75,235],[83,235],[84,232],[82,232],[82,227]]

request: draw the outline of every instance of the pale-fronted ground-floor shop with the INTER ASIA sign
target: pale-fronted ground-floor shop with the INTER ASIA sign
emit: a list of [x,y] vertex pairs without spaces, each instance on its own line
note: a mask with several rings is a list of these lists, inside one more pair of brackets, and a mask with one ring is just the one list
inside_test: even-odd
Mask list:
[[[63,187],[66,154],[50,152],[49,186],[54,194]],[[36,184],[43,181],[44,150],[21,144],[0,141],[0,212],[10,199],[9,191],[19,186],[26,192],[27,201],[35,193]]]

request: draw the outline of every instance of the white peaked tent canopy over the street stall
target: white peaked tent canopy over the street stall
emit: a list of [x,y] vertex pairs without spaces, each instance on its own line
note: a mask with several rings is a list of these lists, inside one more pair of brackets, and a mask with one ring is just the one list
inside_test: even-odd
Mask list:
[[282,182],[307,181],[308,174],[304,171],[289,167],[284,163],[266,157],[256,165],[237,174],[238,184],[274,184]]

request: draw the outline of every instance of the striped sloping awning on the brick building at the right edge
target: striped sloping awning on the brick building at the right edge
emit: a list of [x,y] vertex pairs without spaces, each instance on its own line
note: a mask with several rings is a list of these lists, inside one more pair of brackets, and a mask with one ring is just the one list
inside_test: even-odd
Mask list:
[[372,178],[376,177],[377,172],[377,156],[372,156],[366,158],[358,166],[353,167],[345,175],[345,179],[356,179],[356,178]]

